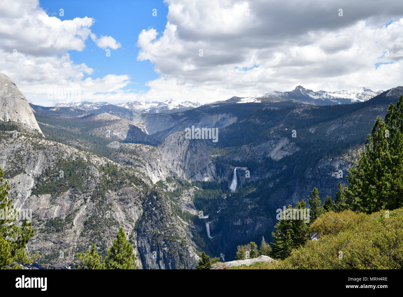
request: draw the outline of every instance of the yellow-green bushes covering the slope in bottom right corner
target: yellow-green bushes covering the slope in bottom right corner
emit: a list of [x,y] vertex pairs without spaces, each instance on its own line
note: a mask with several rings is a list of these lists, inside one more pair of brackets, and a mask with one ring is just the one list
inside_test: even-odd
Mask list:
[[267,268],[403,268],[403,209],[391,211],[388,218],[385,211],[370,215],[343,211],[320,219],[311,230],[323,234],[321,238],[294,249],[290,257]]

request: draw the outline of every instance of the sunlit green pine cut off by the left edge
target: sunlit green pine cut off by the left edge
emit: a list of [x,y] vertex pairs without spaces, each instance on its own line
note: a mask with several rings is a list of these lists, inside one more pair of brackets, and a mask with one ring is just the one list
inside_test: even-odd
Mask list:
[[4,172],[0,169],[0,269],[21,269],[21,265],[32,263],[25,251],[27,242],[34,236],[32,222],[24,218],[21,227],[14,223],[19,215],[7,198],[10,187],[3,179]]

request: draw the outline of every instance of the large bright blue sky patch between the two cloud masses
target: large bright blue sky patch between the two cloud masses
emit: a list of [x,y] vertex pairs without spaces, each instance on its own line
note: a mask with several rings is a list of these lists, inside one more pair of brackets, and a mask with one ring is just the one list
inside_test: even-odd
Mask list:
[[[105,50],[96,46],[89,38],[83,51],[69,51],[74,63],[85,63],[94,69],[91,75],[85,74],[84,79],[88,76],[95,79],[108,74],[128,74],[133,84],[123,89],[147,91],[149,87],[145,86],[145,83],[158,77],[150,61],[137,61],[139,48],[136,43],[143,29],[152,27],[158,32],[164,31],[168,7],[162,1],[69,0],[60,3],[54,0],[40,0],[39,3],[49,16],[58,17],[62,21],[75,17],[96,19],[91,26],[91,32],[98,37],[112,36],[122,45],[121,48],[111,50],[110,57],[106,57]],[[63,17],[59,15],[60,8],[64,9]],[[152,16],[154,8],[157,9],[156,17]]]

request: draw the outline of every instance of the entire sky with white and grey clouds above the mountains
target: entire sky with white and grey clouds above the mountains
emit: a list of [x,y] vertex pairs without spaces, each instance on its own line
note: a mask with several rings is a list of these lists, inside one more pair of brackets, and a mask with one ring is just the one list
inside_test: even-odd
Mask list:
[[403,1],[2,0],[0,57],[46,106],[386,90],[403,85]]

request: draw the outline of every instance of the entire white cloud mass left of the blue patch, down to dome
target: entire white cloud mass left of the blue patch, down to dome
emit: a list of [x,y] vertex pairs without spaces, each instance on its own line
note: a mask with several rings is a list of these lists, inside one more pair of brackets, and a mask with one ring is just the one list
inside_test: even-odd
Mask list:
[[[29,101],[53,105],[60,99],[48,96],[55,89],[79,89],[81,99],[102,99],[121,92],[130,83],[128,75],[86,78],[94,70],[76,64],[68,51],[83,51],[91,36],[101,48],[116,49],[120,43],[111,36],[98,39],[91,33],[90,17],[60,20],[49,16],[36,0],[0,2],[0,72],[10,76]],[[71,99],[77,100],[77,96]]]

